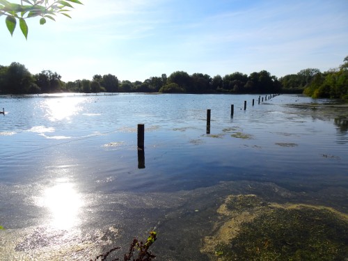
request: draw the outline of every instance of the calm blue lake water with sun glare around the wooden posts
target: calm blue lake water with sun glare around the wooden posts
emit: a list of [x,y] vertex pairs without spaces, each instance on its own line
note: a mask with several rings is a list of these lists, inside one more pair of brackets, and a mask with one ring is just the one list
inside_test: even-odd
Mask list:
[[348,213],[348,107],[258,97],[0,97],[0,260],[90,260],[110,246],[125,253],[154,228],[157,260],[209,260],[200,240],[228,194]]

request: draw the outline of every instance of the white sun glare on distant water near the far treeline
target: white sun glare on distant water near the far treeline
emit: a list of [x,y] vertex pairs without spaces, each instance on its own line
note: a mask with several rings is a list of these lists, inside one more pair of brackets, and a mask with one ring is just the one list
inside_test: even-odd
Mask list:
[[45,100],[46,116],[51,121],[70,120],[71,116],[81,110],[78,106],[83,100],[81,97],[62,97],[58,99]]

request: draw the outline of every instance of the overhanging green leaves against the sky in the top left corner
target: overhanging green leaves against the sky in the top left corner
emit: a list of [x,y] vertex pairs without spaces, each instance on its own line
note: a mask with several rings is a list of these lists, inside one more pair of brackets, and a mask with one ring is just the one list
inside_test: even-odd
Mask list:
[[26,19],[41,17],[40,24],[45,24],[46,18],[55,21],[54,16],[58,14],[70,17],[67,12],[70,11],[69,8],[74,8],[70,3],[82,4],[79,0],[22,0],[20,4],[0,0],[0,16],[6,16],[6,27],[11,35],[15,31],[18,20],[19,28],[27,39],[29,29]]

